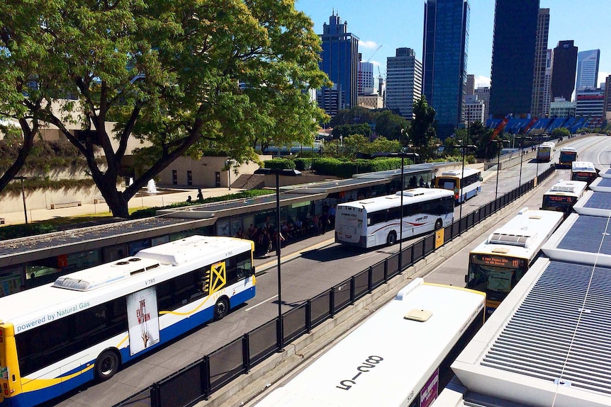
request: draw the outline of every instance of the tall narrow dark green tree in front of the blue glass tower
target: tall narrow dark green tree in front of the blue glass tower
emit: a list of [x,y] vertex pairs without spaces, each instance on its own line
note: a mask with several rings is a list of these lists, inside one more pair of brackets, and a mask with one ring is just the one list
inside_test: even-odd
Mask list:
[[435,132],[435,109],[427,103],[424,95],[414,102],[414,119],[411,122],[410,142],[420,154],[420,160],[431,157],[435,151],[437,133]]

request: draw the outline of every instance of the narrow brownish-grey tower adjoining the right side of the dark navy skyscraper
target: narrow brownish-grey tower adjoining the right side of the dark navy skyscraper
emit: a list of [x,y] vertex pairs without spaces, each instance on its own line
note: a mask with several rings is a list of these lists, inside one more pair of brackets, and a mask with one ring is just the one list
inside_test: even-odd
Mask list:
[[534,72],[532,74],[532,115],[544,117],[545,69],[547,38],[549,37],[549,8],[539,8],[537,42],[534,47]]

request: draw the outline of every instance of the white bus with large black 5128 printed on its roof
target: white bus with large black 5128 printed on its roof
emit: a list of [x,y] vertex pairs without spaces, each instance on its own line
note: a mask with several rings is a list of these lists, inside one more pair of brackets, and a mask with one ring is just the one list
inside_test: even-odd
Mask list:
[[416,278],[256,407],[430,406],[483,324],[482,292]]

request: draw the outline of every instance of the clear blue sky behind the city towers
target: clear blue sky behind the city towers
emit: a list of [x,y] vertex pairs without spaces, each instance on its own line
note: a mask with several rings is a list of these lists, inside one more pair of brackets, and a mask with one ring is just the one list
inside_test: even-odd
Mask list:
[[[494,3],[469,0],[467,71],[476,76],[476,86],[490,83]],[[422,60],[424,4],[425,0],[296,0],[296,8],[310,16],[318,34],[335,8],[342,22],[347,21],[348,31],[359,37],[363,60],[371,58],[382,75],[386,58],[394,57],[396,48],[413,48]],[[574,40],[579,51],[599,49],[598,83],[604,81],[611,74],[611,0],[540,0],[539,6],[550,9],[548,48],[561,40]]]

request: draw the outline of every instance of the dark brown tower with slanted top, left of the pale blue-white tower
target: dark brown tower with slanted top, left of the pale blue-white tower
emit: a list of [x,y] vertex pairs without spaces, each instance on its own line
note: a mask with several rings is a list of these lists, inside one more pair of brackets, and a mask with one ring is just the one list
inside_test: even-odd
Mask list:
[[575,90],[577,47],[573,40],[559,41],[551,56],[551,100],[565,98],[571,101]]

